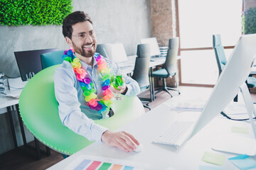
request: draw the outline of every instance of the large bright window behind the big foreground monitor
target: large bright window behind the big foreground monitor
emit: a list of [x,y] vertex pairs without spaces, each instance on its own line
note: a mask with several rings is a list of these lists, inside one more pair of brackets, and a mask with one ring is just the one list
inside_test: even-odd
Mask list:
[[228,58],[241,35],[242,1],[178,0],[181,84],[213,85],[218,79],[213,34],[220,34]]

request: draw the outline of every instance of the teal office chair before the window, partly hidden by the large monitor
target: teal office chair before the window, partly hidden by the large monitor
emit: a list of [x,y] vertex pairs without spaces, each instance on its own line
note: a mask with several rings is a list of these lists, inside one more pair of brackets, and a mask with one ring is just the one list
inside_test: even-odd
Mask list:
[[[225,57],[224,47],[221,44],[220,34],[213,35],[213,49],[215,52],[215,57],[218,64],[219,76],[222,72],[225,64],[227,64],[227,60]],[[254,88],[256,86],[256,78],[255,77],[248,77],[246,80],[246,84],[248,89]]]

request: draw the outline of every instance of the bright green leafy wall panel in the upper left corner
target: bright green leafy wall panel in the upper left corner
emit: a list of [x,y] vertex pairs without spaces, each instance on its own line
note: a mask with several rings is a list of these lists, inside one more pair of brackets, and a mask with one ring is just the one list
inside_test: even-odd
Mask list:
[[0,24],[61,25],[72,8],[72,0],[0,0]]

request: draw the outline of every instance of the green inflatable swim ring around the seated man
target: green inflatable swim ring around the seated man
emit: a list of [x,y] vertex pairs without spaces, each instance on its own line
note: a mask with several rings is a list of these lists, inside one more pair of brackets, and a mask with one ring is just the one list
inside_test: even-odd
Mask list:
[[[58,115],[58,102],[54,94],[53,75],[59,65],[48,67],[36,74],[21,92],[18,102],[21,118],[31,133],[44,145],[63,154],[74,154],[92,144],[85,137],[65,127]],[[135,97],[114,101],[114,115],[95,123],[117,130],[142,115],[144,107]]]

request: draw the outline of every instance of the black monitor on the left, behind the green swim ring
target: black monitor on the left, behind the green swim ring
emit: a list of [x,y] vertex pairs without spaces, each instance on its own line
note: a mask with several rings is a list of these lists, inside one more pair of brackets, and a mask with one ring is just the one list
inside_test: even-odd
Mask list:
[[41,54],[57,51],[58,48],[14,52],[22,81],[31,79],[42,70]]

